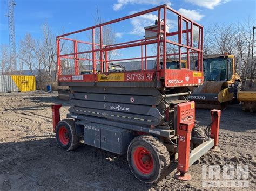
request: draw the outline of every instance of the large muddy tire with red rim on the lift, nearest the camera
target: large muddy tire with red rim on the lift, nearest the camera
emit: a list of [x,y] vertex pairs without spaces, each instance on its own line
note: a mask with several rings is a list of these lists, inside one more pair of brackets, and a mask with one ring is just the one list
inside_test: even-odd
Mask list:
[[[138,150],[142,150],[142,153],[138,154]],[[149,154],[144,154],[144,151]],[[137,155],[140,156],[139,159]],[[145,183],[154,183],[164,178],[170,165],[170,155],[166,147],[157,138],[145,135],[131,141],[127,150],[127,160],[134,176]],[[148,164],[149,167],[140,169],[138,166],[141,165],[138,163],[143,163],[143,167]]]

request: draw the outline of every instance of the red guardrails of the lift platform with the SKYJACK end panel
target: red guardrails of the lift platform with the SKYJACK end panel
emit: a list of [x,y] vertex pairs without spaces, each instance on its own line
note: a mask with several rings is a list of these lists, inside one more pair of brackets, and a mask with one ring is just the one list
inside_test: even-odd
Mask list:
[[[110,25],[113,23],[121,22],[126,19],[131,19],[134,17],[142,16],[151,12],[157,11],[157,30],[154,32],[157,32],[157,37],[154,39],[138,39],[138,40],[133,40],[133,41],[127,41],[124,43],[118,43],[118,44],[113,44],[113,45],[103,45],[103,26]],[[162,12],[163,11],[163,12]],[[177,22],[178,22],[178,31],[174,32],[167,32],[166,31],[166,23],[167,23],[167,11],[171,11],[174,13],[174,15],[177,15]],[[163,18],[161,18],[161,13],[163,13]],[[185,23],[185,25],[184,25]],[[185,29],[184,29],[185,27]],[[197,43],[194,43],[193,41],[193,27],[198,27],[198,41]],[[95,43],[95,30],[99,30],[99,44]],[[92,34],[92,42],[84,42],[76,39],[71,39],[67,38],[67,36],[70,36],[72,34],[77,34],[80,32],[84,31],[90,31]],[[152,31],[152,30],[151,30]],[[185,34],[185,42],[184,42],[184,34]],[[178,41],[172,41],[169,40],[168,37],[171,36],[178,36]],[[60,53],[60,40],[69,40],[73,41],[73,53],[69,54],[61,54]],[[89,51],[82,51],[78,52],[78,44],[87,44],[91,45],[91,49]],[[147,45],[151,44],[157,44],[157,54],[153,56],[147,56]],[[167,44],[172,44],[174,46],[178,47],[178,53],[172,53],[168,54],[166,52],[166,47]],[[96,48],[98,46],[98,48]],[[124,48],[130,48],[130,47],[138,47],[140,46],[140,51],[141,55],[140,57],[137,58],[124,58],[124,59],[116,59],[116,60],[108,60],[107,59],[107,54],[109,51],[114,51],[118,49],[124,49]],[[144,48],[143,48],[144,47]],[[183,52],[182,48],[186,48],[186,51]],[[144,49],[144,51],[143,51]],[[99,53],[99,59],[96,59],[96,53]],[[92,59],[85,59],[85,58],[80,58],[80,54],[86,54],[86,53],[91,53],[92,54]],[[103,54],[105,54],[105,59],[103,58]],[[197,55],[197,60],[198,60],[198,66],[197,66],[197,72],[200,73],[200,75],[190,73],[187,70],[190,70],[190,54],[196,54]],[[180,63],[180,72],[178,70],[173,71],[172,69],[166,69],[166,57],[167,56],[174,56],[177,55],[179,58],[179,63]],[[186,55],[187,58],[187,66],[188,68],[181,68],[181,60],[182,60],[182,55]],[[195,81],[187,81],[187,83],[180,83],[178,86],[189,86],[189,85],[195,85],[195,84],[201,84],[203,83],[203,26],[199,25],[196,22],[193,22],[193,20],[181,15],[179,12],[176,10],[173,10],[170,8],[168,5],[161,5],[157,6],[156,8],[152,8],[149,10],[145,10],[142,12],[134,13],[130,16],[122,17],[119,19],[114,19],[111,20],[110,22],[102,23],[96,26],[91,26],[87,27],[86,29],[62,34],[60,36],[57,36],[57,64],[58,64],[58,79],[59,81],[62,81],[62,79],[66,79],[65,81],[70,81],[70,75],[65,76],[62,75],[62,68],[61,68],[61,61],[60,59],[65,58],[65,59],[73,59],[74,60],[74,70],[75,74],[73,75],[79,75],[79,66],[78,66],[78,60],[87,60],[92,62],[92,74],[95,75],[93,77],[87,77],[87,80],[83,81],[97,81],[97,74],[99,73],[96,70],[96,64],[99,63],[100,65],[100,73],[108,73],[108,64],[110,62],[118,62],[118,61],[124,61],[124,60],[137,60],[140,59],[141,61],[141,70],[147,70],[147,59],[149,58],[156,58],[156,68],[153,69],[156,72],[157,80],[160,80],[161,78],[165,79],[165,86],[177,86],[177,84],[172,84],[170,83],[170,79],[176,77],[178,82],[183,82],[185,81],[184,79],[179,79],[179,76],[173,76],[173,73],[183,75],[183,76],[188,76],[190,79],[193,79],[194,77],[199,77],[200,80]],[[144,62],[145,62],[145,67],[144,67]],[[160,63],[163,63],[163,65],[160,66]],[[105,65],[105,67],[104,67]],[[181,73],[181,70],[186,70],[186,73]],[[104,71],[104,72],[103,72]],[[68,79],[68,80],[67,80]],[[84,79],[84,78],[83,78]],[[72,80],[71,80],[72,81]],[[125,81],[125,80],[124,80]]]

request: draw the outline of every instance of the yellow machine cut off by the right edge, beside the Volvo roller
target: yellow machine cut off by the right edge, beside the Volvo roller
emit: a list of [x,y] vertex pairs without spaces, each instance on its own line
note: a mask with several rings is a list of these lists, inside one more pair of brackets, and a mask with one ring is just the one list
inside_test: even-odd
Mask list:
[[242,110],[256,112],[256,79],[244,80],[242,90],[238,93]]

